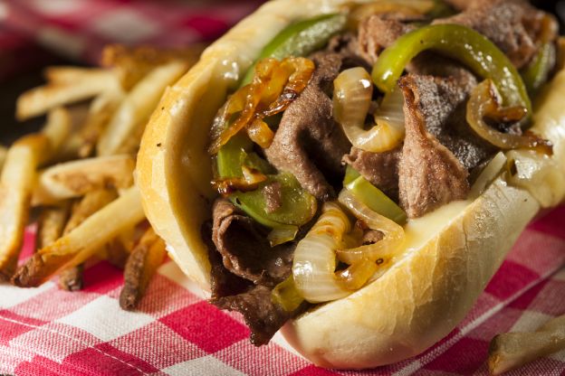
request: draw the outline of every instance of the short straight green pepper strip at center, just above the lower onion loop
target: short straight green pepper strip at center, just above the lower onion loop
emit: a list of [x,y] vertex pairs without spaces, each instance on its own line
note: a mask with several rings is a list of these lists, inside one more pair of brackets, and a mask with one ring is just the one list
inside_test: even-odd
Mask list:
[[406,212],[350,166],[347,168],[343,186],[366,204],[370,210],[376,211],[400,225],[406,223]]

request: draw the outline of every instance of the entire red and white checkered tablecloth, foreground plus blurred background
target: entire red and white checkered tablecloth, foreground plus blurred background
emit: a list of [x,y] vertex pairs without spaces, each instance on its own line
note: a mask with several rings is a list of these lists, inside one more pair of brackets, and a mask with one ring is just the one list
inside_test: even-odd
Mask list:
[[[35,45],[95,63],[107,42],[211,40],[261,1],[0,0],[0,78],[42,61]],[[33,249],[27,234],[24,255]],[[486,374],[494,334],[531,331],[565,314],[565,207],[534,221],[463,323],[417,358],[369,371],[319,369],[278,334],[255,348],[240,316],[220,312],[168,262],[135,313],[120,310],[120,269],[102,261],[85,289],[0,285],[0,374],[468,375]],[[565,352],[512,375],[565,375]]]

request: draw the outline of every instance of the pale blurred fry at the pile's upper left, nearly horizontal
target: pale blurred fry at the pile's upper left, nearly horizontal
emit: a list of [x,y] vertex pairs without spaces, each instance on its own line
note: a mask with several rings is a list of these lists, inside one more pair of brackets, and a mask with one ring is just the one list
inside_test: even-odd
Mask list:
[[[48,76],[53,82],[24,92],[16,104],[16,118],[25,120],[43,115],[51,108],[90,99],[102,92],[119,87],[117,75],[106,69],[71,69],[72,72],[53,73]],[[59,72],[62,69],[58,70]],[[73,80],[71,80],[71,77]]]

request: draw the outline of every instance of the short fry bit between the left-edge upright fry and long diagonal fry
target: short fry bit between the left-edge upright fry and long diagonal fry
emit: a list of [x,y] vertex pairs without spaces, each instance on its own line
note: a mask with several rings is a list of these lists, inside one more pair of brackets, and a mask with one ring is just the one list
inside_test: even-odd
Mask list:
[[43,208],[37,220],[35,249],[42,249],[61,238],[62,231],[69,219],[71,202],[62,202],[56,206]]

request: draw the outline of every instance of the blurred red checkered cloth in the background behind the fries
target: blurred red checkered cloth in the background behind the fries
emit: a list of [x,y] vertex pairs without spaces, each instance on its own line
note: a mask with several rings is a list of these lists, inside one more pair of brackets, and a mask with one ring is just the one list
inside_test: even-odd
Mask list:
[[212,41],[261,3],[0,0],[0,78],[19,64],[31,63],[29,50],[35,43],[75,61],[95,64],[110,42],[178,47]]

